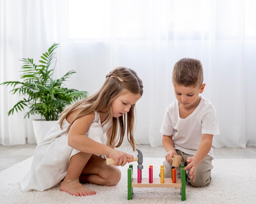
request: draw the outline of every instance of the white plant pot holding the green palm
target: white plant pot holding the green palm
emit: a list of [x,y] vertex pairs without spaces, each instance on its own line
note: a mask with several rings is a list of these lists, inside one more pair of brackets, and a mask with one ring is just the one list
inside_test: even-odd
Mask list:
[[56,122],[57,121],[46,121],[44,119],[32,120],[34,134],[36,137],[36,144],[42,140],[42,138]]

